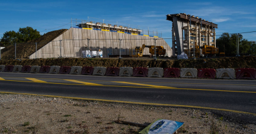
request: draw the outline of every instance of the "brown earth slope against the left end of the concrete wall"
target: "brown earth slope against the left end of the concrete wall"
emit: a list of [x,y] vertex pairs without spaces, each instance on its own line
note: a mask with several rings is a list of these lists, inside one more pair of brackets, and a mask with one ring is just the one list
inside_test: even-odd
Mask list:
[[[63,29],[63,30],[47,32],[46,34],[42,35],[40,38],[37,38],[33,41],[28,41],[27,43],[18,43],[16,46],[16,57],[28,58],[29,55],[33,54],[36,51],[35,43],[37,43],[37,50],[39,50],[41,47],[43,47],[50,41],[54,40],[56,37],[58,37],[60,34],[62,34],[65,31],[67,30]],[[15,58],[14,45],[10,45],[1,51],[2,51],[2,60]]]

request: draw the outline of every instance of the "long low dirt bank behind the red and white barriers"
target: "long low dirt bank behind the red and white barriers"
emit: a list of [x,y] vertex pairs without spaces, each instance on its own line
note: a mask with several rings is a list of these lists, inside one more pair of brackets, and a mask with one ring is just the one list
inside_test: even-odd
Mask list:
[[92,67],[175,67],[175,68],[256,68],[256,56],[223,57],[197,60],[135,60],[113,58],[48,58],[3,60],[4,65],[92,66]]

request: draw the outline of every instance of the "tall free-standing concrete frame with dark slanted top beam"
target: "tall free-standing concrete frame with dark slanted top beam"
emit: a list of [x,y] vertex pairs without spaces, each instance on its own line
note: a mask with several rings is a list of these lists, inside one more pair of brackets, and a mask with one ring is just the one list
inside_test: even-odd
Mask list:
[[[172,21],[172,55],[185,52],[188,57],[194,56],[195,46],[213,45],[216,47],[215,28],[217,24],[199,17],[186,14],[168,14],[167,20]],[[200,50],[200,55],[202,55]],[[200,56],[198,55],[198,56]]]

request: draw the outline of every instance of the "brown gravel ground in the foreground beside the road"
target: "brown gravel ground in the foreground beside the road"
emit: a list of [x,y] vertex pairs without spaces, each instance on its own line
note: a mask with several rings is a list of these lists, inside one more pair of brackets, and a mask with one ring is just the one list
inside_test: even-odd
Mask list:
[[256,125],[231,122],[199,109],[88,102],[63,98],[0,94],[0,133],[139,133],[143,128],[117,119],[152,123],[185,122],[178,133],[256,133]]

